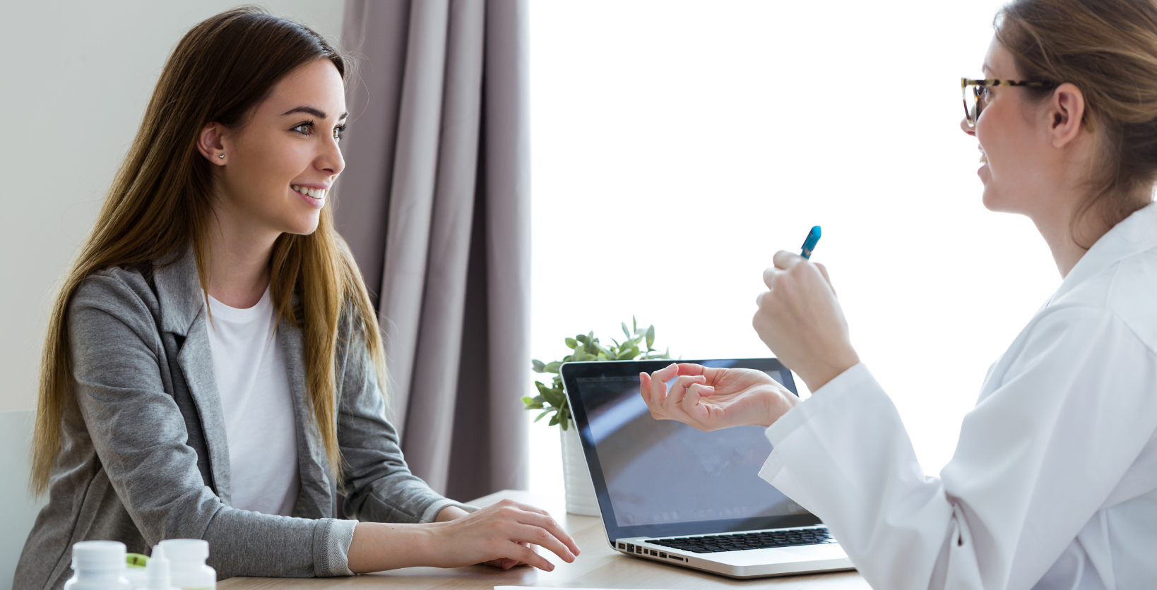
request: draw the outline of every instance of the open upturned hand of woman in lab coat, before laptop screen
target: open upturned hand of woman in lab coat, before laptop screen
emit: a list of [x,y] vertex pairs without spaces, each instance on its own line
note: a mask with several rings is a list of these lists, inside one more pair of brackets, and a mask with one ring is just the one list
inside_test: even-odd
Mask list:
[[[666,382],[675,378],[670,391]],[[724,369],[671,363],[651,375],[639,374],[651,416],[678,420],[700,430],[732,426],[771,426],[799,398],[754,369]]]

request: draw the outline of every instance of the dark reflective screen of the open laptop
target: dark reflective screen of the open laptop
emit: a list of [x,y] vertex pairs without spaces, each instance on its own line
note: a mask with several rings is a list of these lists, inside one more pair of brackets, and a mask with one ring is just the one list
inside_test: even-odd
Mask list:
[[[563,364],[587,463],[612,539],[703,534],[816,524],[818,519],[759,478],[772,445],[758,426],[705,433],[655,420],[639,373],[671,361]],[[775,359],[697,362],[767,373],[791,392]]]

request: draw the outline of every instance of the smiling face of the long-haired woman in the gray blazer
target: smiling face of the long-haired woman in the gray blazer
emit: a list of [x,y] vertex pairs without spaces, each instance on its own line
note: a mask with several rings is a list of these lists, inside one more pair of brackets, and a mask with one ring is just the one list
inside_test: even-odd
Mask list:
[[290,72],[248,121],[220,130],[220,153],[206,154],[220,165],[219,217],[260,234],[317,229],[345,168],[338,140],[347,115],[341,75],[330,60]]

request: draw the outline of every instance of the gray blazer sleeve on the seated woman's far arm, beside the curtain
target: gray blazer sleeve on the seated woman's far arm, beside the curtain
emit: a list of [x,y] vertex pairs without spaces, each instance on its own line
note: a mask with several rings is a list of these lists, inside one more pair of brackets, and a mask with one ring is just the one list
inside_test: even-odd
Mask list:
[[[346,514],[361,521],[428,523],[448,506],[477,508],[448,500],[410,472],[398,443],[398,430],[385,418],[364,333],[352,309],[342,315],[338,341],[341,404],[338,442],[345,462]],[[358,326],[358,327],[354,327]]]

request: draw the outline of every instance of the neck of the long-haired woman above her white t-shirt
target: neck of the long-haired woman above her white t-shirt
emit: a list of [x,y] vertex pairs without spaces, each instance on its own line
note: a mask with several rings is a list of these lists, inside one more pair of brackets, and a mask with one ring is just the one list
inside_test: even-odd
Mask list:
[[251,308],[270,286],[270,256],[279,234],[246,224],[223,207],[215,213],[208,244],[209,295],[230,308]]

